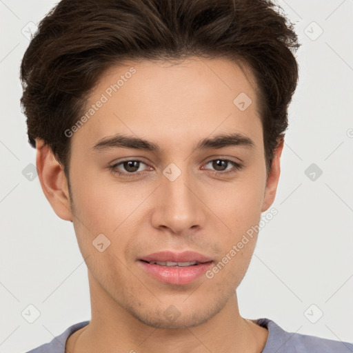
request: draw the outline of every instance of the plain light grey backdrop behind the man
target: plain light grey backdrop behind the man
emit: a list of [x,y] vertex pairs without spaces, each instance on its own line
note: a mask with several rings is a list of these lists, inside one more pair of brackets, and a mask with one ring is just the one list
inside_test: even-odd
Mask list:
[[[90,319],[72,223],[54,214],[39,179],[22,173],[35,164],[35,150],[19,106],[19,64],[28,23],[54,3],[0,0],[0,352],[30,350]],[[290,332],[352,342],[353,1],[278,3],[302,43],[300,81],[273,205],[278,214],[259,234],[239,307],[245,318],[268,317]],[[314,181],[305,174],[312,163],[323,171]],[[21,315],[30,304],[40,312],[34,323]]]

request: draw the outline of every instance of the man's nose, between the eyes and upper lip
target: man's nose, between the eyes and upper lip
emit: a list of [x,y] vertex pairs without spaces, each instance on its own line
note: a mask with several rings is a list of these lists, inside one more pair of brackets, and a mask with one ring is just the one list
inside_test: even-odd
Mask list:
[[152,214],[154,228],[168,228],[173,234],[203,228],[206,207],[200,190],[200,185],[186,171],[174,181],[162,175]]

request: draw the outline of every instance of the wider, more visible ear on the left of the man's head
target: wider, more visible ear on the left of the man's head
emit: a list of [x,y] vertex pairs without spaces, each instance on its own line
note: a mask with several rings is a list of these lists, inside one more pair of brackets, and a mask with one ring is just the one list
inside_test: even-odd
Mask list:
[[68,181],[62,165],[41,139],[36,139],[37,171],[41,188],[54,212],[65,221],[72,221]]

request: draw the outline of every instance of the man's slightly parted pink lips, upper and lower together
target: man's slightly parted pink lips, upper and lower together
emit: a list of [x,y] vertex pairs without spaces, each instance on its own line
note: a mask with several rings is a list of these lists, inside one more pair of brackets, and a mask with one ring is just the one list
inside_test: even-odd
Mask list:
[[[198,264],[183,267],[170,267],[152,264],[146,261],[197,261]],[[179,253],[172,251],[154,252],[148,256],[143,256],[138,262],[141,265],[141,268],[154,279],[173,285],[186,285],[196,281],[196,279],[205,274],[213,264],[212,258],[192,251]]]

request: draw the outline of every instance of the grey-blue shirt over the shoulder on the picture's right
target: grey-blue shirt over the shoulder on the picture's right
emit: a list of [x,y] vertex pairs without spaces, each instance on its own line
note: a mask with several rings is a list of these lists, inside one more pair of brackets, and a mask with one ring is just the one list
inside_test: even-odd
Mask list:
[[252,320],[268,328],[268,340],[261,353],[353,353],[353,344],[287,332],[270,319]]

